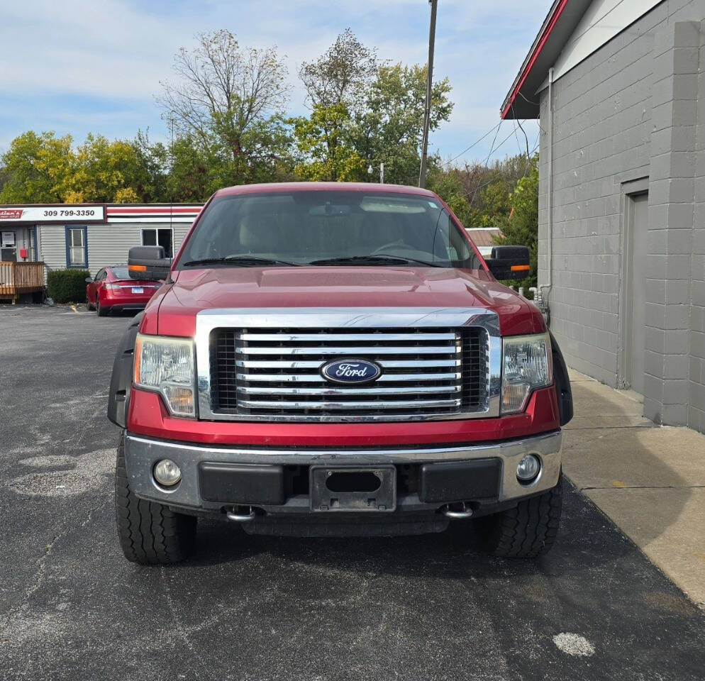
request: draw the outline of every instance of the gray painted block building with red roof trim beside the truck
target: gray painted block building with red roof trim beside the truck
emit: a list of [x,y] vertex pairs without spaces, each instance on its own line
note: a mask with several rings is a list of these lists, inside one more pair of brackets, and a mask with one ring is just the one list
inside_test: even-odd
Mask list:
[[540,123],[539,286],[568,364],[705,432],[705,0],[556,0],[501,113]]

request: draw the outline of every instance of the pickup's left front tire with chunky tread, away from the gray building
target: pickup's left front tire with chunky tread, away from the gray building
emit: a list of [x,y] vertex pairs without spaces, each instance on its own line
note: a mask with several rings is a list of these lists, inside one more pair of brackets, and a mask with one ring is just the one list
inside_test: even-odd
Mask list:
[[121,434],[115,467],[115,516],[125,558],[140,565],[179,563],[194,552],[196,517],[138,499],[128,486]]

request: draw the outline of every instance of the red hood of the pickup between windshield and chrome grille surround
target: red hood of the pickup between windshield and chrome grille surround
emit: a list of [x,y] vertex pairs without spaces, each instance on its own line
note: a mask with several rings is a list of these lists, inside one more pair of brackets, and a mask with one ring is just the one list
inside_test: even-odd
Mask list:
[[540,311],[484,270],[216,267],[173,275],[150,301],[143,332],[193,336],[201,310],[262,307],[480,307],[496,311],[503,336],[545,331]]

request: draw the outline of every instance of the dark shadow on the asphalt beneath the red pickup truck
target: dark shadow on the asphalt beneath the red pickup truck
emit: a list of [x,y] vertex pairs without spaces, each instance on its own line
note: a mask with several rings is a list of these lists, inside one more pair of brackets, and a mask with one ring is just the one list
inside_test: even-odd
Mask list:
[[[597,550],[596,546],[599,546]],[[199,521],[194,565],[238,563],[259,554],[334,570],[372,570],[401,577],[487,578],[599,570],[633,554],[634,547],[589,502],[564,482],[564,512],[555,546],[534,560],[484,553],[474,521],[454,521],[442,533],[404,537],[291,538],[257,536],[221,521]]]

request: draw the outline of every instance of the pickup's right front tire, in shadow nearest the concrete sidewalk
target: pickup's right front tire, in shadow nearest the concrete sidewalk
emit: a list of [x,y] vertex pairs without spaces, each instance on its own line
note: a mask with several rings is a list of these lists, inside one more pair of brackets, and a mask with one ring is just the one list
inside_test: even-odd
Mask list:
[[562,506],[562,475],[548,492],[491,516],[487,548],[504,558],[536,558],[553,546]]

